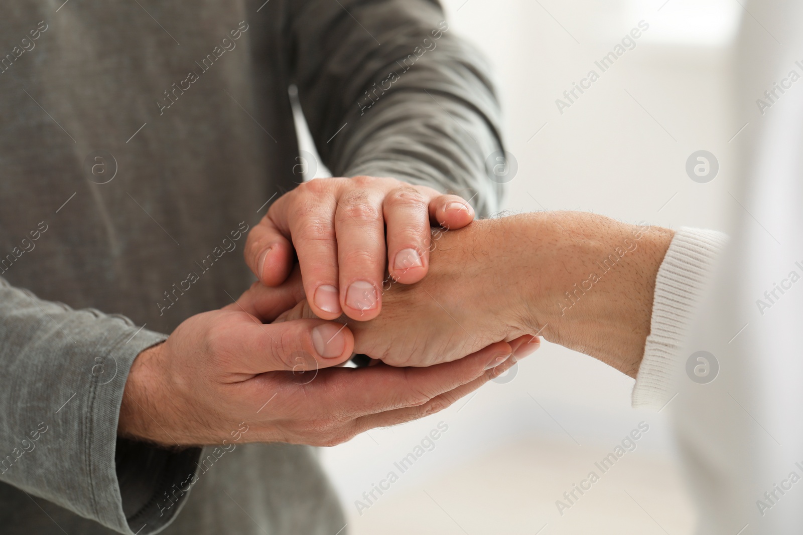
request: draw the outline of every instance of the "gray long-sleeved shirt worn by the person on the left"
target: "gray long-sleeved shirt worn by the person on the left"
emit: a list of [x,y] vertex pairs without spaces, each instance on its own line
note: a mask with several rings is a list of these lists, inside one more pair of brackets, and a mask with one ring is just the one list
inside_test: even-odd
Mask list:
[[311,448],[117,440],[120,399],[160,333],[254,280],[247,230],[300,181],[291,84],[332,172],[495,209],[495,95],[442,19],[427,0],[3,6],[0,532],[343,528]]

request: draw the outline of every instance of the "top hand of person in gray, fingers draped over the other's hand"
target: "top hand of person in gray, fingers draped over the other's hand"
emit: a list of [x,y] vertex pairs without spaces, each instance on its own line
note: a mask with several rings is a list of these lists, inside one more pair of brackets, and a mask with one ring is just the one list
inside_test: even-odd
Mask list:
[[394,281],[420,281],[430,265],[430,225],[460,229],[473,219],[467,201],[426,186],[370,176],[315,179],[275,201],[248,234],[245,257],[263,284],[277,286],[295,253],[317,317],[366,321],[381,310],[385,265]]

